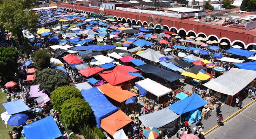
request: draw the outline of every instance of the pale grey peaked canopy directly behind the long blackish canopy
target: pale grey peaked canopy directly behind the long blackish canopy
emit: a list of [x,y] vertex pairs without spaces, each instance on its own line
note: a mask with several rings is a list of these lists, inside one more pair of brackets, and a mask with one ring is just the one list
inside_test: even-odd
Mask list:
[[160,57],[164,57],[164,55],[148,48],[141,53],[137,53],[136,55],[143,57],[144,59],[148,59],[153,62],[159,62]]

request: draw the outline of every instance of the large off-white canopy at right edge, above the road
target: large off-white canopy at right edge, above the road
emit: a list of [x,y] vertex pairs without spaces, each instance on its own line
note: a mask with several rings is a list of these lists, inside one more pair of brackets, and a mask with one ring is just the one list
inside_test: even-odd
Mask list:
[[255,78],[256,71],[232,68],[203,85],[214,91],[234,96]]

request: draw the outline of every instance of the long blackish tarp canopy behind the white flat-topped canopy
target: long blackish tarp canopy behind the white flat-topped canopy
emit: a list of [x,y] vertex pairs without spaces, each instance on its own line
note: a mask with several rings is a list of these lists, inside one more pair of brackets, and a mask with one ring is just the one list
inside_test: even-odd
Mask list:
[[178,80],[180,78],[183,78],[184,76],[180,75],[180,74],[177,74],[177,73],[174,73],[174,72],[171,72],[169,70],[165,70],[165,69],[162,69],[162,68],[159,68],[159,67],[155,67],[155,66],[152,66],[152,65],[141,65],[141,66],[137,66],[135,67],[136,69],[139,69],[143,72],[146,72],[146,73],[152,73],[158,77],[161,77],[161,78],[164,78],[165,80],[168,80],[170,82],[174,81],[174,80]]

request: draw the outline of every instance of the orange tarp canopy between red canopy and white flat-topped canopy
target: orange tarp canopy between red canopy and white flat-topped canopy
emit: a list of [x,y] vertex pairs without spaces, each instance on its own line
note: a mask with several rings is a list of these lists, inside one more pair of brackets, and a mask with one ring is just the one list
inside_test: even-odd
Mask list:
[[98,86],[99,90],[105,95],[109,96],[113,100],[118,102],[124,102],[128,98],[132,96],[137,96],[138,94],[134,94],[128,90],[122,90],[121,86],[112,86],[111,84],[103,84]]

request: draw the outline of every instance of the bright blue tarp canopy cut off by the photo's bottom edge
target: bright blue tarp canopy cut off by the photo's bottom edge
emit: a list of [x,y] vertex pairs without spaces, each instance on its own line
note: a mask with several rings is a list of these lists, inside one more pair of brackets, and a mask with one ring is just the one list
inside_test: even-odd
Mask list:
[[52,116],[23,126],[26,139],[56,139],[62,134]]

